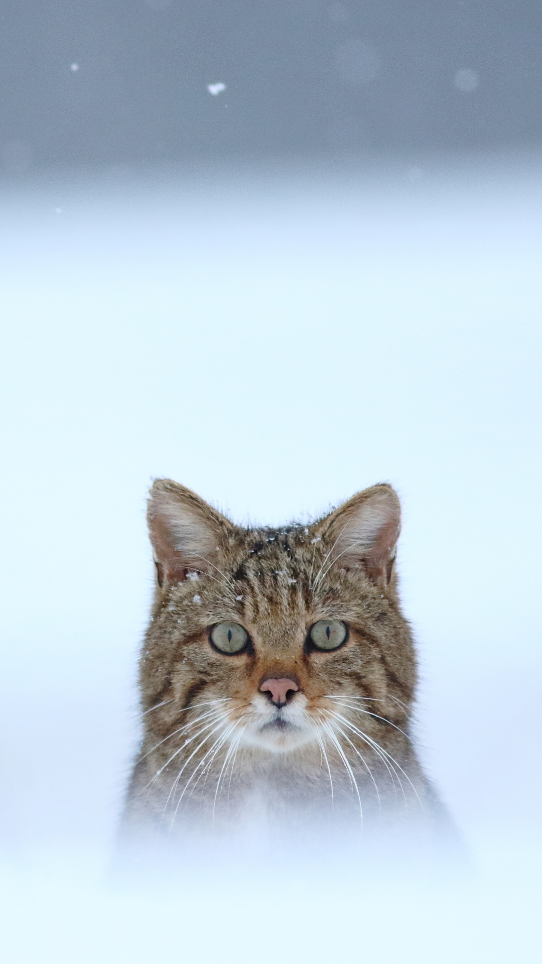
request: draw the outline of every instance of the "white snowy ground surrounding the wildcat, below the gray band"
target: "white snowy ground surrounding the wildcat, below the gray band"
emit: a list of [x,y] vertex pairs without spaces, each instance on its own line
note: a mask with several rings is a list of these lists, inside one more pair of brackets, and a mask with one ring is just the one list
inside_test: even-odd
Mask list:
[[[541,174],[478,158],[0,189],[10,964],[535,959]],[[154,475],[239,522],[396,486],[420,744],[471,870],[111,878]]]

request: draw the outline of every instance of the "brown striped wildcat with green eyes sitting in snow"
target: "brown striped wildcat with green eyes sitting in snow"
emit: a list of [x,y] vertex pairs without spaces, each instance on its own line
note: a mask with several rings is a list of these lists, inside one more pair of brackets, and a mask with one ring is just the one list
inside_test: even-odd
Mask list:
[[445,825],[410,734],[393,488],[310,525],[242,528],[159,479],[148,522],[156,587],[124,827]]

